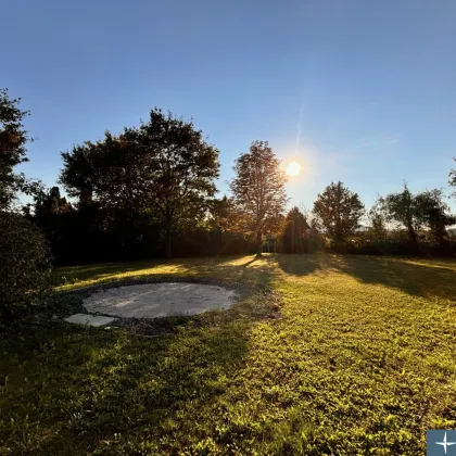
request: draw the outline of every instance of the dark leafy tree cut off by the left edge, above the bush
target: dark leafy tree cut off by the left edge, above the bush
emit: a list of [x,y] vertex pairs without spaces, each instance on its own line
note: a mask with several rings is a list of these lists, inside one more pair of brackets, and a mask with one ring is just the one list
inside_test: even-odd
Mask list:
[[18,107],[21,99],[10,100],[8,90],[0,89],[0,211],[7,211],[18,191],[33,194],[39,182],[27,180],[14,167],[27,162],[26,143],[30,139],[23,121],[29,114]]

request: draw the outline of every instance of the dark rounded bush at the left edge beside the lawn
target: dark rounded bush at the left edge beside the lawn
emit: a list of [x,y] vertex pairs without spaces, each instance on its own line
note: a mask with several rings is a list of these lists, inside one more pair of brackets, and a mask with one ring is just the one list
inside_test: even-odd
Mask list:
[[11,316],[49,289],[50,252],[22,215],[0,213],[0,314]]

